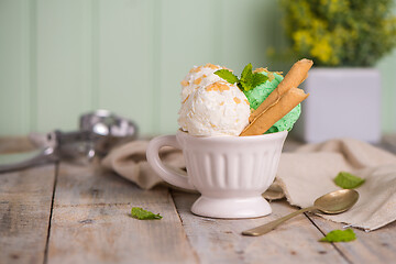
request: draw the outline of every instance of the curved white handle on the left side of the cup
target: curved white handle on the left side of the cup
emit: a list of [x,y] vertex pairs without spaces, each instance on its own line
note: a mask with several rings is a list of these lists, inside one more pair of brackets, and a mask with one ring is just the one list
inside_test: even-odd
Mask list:
[[148,164],[152,166],[155,173],[160,175],[165,182],[189,190],[196,190],[196,188],[188,182],[186,173],[179,173],[169,169],[160,158],[160,148],[163,146],[173,146],[182,150],[180,145],[176,140],[176,135],[162,135],[150,141],[146,157]]

